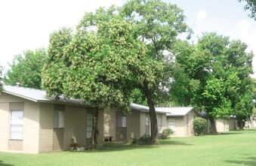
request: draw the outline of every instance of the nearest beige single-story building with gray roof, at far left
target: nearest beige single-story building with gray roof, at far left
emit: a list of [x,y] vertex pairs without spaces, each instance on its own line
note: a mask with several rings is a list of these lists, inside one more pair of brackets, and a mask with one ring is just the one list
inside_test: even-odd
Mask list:
[[[4,86],[0,96],[0,151],[51,152],[69,149],[72,139],[90,144],[94,107],[79,100],[48,98],[45,91]],[[103,143],[103,110],[98,143]]]

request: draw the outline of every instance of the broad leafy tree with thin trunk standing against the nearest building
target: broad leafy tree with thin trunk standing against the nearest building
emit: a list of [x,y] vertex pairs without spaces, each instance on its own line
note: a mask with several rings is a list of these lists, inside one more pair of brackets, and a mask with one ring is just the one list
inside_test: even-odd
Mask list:
[[48,94],[81,98],[96,107],[91,134],[94,148],[98,109],[122,107],[128,111],[135,79],[132,70],[142,68],[147,73],[145,68],[150,67],[141,64],[147,59],[146,47],[134,38],[131,23],[114,11],[100,8],[96,14],[85,14],[74,35],[69,29],[54,32],[43,73]]

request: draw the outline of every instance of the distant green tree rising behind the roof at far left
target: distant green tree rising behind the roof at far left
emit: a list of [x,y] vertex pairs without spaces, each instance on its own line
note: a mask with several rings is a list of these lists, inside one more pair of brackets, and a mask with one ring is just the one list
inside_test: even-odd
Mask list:
[[11,69],[5,74],[4,81],[9,85],[20,83],[21,86],[41,89],[42,67],[45,63],[46,52],[44,49],[31,51],[14,57]]

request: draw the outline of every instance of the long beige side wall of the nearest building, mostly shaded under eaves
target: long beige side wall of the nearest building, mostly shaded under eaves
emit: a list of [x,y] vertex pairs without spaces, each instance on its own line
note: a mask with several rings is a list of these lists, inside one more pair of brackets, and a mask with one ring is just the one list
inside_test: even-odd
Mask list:
[[[68,150],[72,143],[72,138],[79,146],[86,146],[86,114],[94,111],[91,107],[76,105],[65,105],[63,138],[63,150]],[[99,136],[97,142],[103,144],[103,110],[99,110],[98,117]],[[51,152],[54,147],[54,104],[40,105],[40,142],[39,152]],[[56,137],[55,137],[56,138]],[[57,138],[56,138],[57,139]],[[56,141],[55,141],[56,142]]]

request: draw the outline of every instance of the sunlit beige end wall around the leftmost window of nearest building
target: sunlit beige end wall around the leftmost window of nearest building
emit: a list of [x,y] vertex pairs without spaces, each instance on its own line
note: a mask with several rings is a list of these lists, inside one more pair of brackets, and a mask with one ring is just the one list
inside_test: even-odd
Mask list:
[[23,152],[39,152],[39,104],[5,93],[0,96],[0,150],[8,151],[11,118],[10,103],[24,104]]

